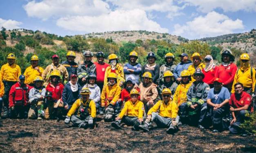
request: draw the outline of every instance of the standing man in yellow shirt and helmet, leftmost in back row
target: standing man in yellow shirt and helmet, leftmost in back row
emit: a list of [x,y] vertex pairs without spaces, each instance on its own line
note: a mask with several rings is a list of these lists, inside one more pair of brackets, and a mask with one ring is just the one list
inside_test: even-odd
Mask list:
[[[15,55],[13,53],[10,53],[7,56],[7,62],[1,67],[0,70],[0,81],[4,83],[4,96],[3,96],[3,103],[4,103],[4,114],[1,117],[2,119],[5,119],[9,117],[9,92],[11,89],[11,86],[17,83],[19,76],[21,74],[20,66],[18,66],[15,62]],[[2,106],[1,106],[2,108]],[[2,112],[2,109],[0,110],[0,113]]]

